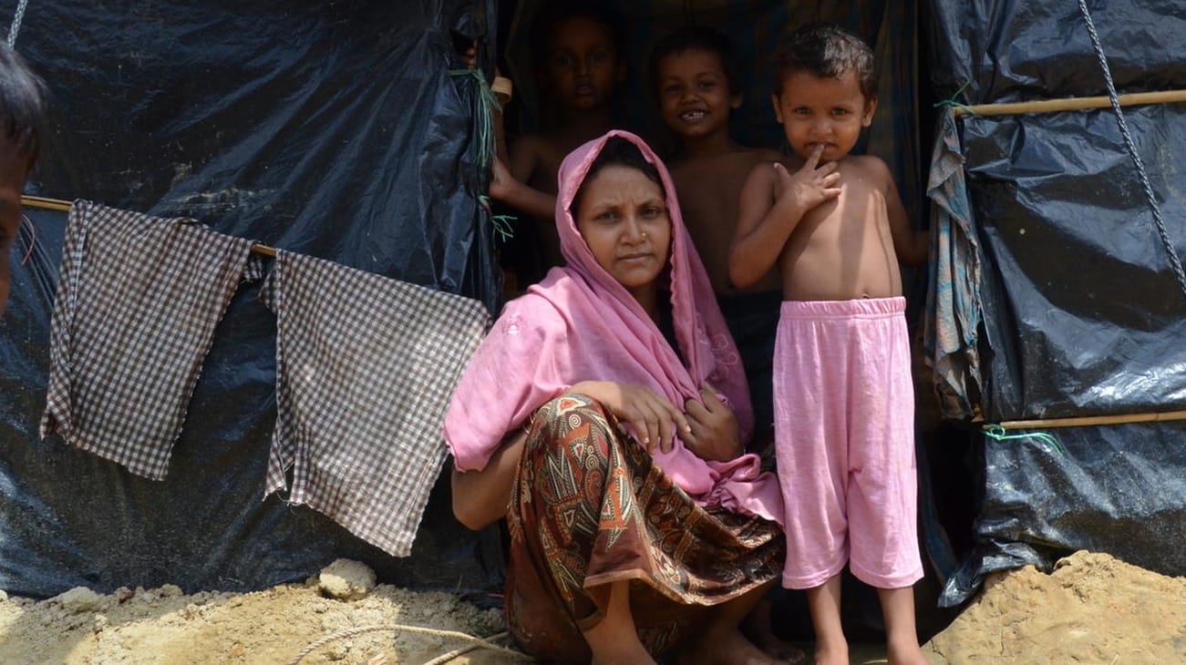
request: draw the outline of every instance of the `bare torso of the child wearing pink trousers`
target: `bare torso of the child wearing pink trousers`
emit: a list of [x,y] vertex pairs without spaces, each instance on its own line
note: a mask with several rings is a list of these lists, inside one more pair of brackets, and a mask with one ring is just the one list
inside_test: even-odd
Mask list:
[[[840,197],[803,215],[778,257],[784,300],[901,295],[886,204],[894,185],[875,165],[868,156],[841,160]],[[791,172],[802,166],[786,164]]]

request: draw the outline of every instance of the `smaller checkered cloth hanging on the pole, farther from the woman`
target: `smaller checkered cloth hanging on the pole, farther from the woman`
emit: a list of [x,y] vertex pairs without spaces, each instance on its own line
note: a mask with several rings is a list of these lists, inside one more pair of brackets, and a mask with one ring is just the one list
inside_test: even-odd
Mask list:
[[[50,320],[42,437],[161,480],[251,241],[78,200]],[[249,269],[250,264],[250,269]]]

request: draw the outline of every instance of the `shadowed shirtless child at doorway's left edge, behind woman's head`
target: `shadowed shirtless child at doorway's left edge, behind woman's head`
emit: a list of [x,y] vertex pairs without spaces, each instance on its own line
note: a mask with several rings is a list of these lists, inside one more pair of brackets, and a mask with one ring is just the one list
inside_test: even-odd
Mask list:
[[537,222],[544,269],[563,264],[554,220],[556,172],[565,155],[611,128],[626,73],[618,46],[612,19],[592,4],[544,5],[533,23],[543,130],[499,151],[490,196]]

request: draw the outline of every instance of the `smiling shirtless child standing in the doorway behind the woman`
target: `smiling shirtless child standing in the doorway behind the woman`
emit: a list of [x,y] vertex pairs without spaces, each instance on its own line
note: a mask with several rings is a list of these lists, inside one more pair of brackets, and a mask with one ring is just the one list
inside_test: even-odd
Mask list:
[[[747,288],[734,287],[728,274],[729,242],[746,175],[758,164],[782,155],[742,146],[729,136],[729,115],[741,105],[741,92],[734,84],[733,45],[725,34],[706,26],[671,32],[651,50],[650,77],[663,122],[680,141],[668,164],[684,225],[745,367],[754,414],[748,448],[763,453],[773,441],[771,362],[782,292],[773,269]],[[802,661],[801,650],[774,635],[770,612],[771,601],[763,599],[742,625],[746,635],[770,656]]]

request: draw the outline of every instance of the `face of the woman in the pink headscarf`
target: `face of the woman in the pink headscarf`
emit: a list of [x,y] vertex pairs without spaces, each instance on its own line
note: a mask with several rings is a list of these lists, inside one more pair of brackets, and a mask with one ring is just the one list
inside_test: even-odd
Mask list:
[[579,204],[576,230],[598,264],[636,299],[651,289],[671,247],[658,183],[632,166],[610,164],[585,181]]

